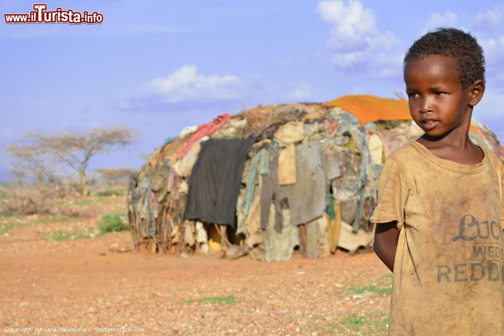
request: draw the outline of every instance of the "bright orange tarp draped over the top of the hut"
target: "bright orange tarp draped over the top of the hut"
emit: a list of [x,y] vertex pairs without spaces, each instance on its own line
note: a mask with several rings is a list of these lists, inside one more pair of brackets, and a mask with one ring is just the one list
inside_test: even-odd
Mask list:
[[[349,95],[336,98],[322,105],[341,107],[355,115],[361,125],[377,120],[411,120],[408,101],[404,99],[388,99],[370,95]],[[481,132],[474,125],[471,125],[470,129],[481,136]]]

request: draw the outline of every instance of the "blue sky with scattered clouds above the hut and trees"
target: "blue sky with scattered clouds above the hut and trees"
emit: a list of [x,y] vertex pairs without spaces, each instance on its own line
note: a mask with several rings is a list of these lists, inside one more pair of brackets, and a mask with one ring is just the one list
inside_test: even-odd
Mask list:
[[[2,1],[2,14],[33,2]],[[78,4],[78,5],[77,5]],[[404,92],[402,57],[438,26],[483,46],[487,89],[473,118],[504,139],[504,5],[497,1],[48,1],[103,14],[99,25],[0,23],[3,146],[29,130],[127,125],[127,149],[94,168],[140,167],[186,125],[222,112],[346,94]]]

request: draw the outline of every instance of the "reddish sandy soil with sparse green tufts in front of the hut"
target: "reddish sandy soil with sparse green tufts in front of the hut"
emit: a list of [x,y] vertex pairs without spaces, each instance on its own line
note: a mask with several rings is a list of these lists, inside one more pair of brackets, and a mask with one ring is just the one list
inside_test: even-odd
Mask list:
[[[100,207],[97,213],[124,212],[124,199]],[[390,272],[373,253],[338,251],[316,260],[295,254],[267,263],[221,259],[220,253],[184,258],[110,252],[114,243],[128,245],[128,233],[44,238],[43,232],[59,227],[94,227],[97,218],[18,224],[0,236],[0,332],[14,334],[23,327],[32,328],[23,334],[46,335],[387,331]],[[18,221],[23,220],[28,221]],[[120,327],[132,331],[106,329]]]

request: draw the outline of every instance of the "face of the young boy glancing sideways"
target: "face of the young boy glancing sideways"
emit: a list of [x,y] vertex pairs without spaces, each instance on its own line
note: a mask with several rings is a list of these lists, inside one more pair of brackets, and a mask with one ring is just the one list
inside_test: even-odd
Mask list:
[[462,125],[469,127],[471,87],[462,89],[452,57],[430,55],[410,60],[404,82],[411,116],[428,136],[442,136]]

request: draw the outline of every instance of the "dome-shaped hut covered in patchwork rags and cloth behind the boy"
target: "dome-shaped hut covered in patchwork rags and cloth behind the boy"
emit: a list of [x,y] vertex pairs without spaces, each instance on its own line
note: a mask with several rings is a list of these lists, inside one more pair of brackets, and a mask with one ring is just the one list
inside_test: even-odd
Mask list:
[[[367,95],[259,106],[185,127],[131,180],[133,243],[266,261],[369,248],[385,159],[422,133],[406,100]],[[469,136],[504,159],[486,126],[473,121]]]

